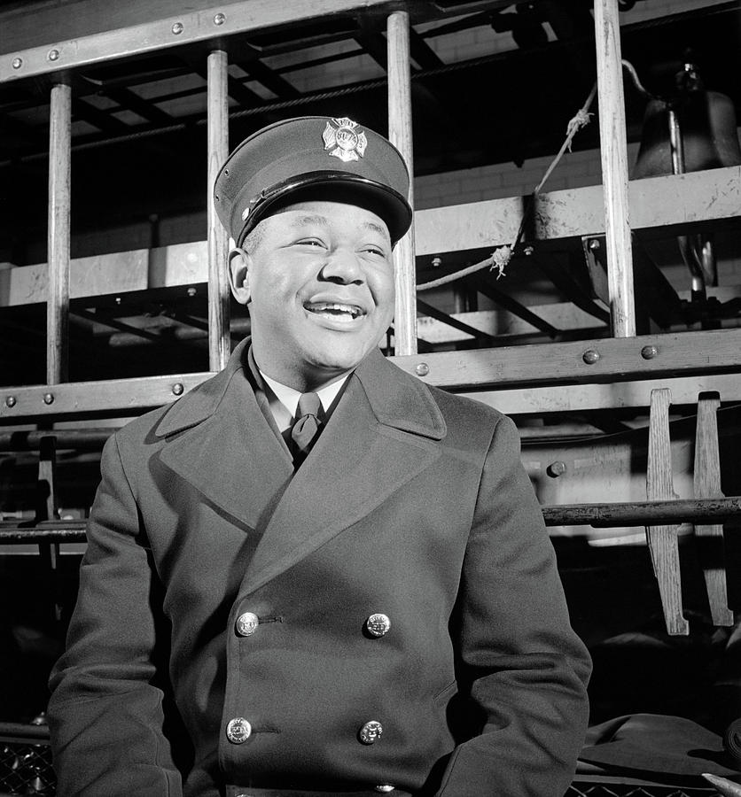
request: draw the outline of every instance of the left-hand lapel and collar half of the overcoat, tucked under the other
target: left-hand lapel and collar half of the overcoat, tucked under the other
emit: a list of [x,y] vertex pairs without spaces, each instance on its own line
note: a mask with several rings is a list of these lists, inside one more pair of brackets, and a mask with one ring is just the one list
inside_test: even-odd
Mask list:
[[256,529],[290,481],[293,465],[247,380],[247,345],[239,344],[222,374],[174,405],[157,434],[171,438],[160,453],[164,465]]

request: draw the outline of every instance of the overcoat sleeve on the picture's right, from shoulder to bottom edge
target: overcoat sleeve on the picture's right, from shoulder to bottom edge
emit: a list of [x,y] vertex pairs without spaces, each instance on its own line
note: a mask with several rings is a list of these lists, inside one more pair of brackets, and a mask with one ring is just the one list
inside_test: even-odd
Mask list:
[[562,797],[586,731],[591,662],[506,417],[481,476],[456,611],[458,680],[479,724],[438,797]]

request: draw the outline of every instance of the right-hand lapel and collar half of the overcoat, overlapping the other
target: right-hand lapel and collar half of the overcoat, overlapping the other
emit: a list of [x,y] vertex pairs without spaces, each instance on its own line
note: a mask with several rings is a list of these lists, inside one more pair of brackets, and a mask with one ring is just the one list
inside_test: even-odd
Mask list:
[[424,384],[371,352],[271,516],[243,593],[368,515],[440,456],[445,423]]

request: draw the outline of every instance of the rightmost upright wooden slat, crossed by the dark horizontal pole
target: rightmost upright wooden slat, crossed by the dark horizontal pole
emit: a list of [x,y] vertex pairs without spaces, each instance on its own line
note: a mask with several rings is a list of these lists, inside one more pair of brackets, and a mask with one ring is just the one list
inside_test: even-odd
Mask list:
[[[721,499],[721,457],[718,448],[716,413],[721,406],[718,393],[698,397],[698,429],[695,438],[694,487],[696,499]],[[698,558],[705,576],[707,598],[714,625],[733,625],[726,585],[722,523],[695,523]]]

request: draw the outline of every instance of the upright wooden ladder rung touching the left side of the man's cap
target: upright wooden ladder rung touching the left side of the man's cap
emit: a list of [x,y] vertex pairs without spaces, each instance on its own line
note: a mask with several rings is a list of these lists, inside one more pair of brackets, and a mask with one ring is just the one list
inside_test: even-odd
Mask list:
[[226,259],[229,236],[222,227],[214,206],[216,175],[229,155],[229,74],[227,54],[213,50],[207,59],[208,84],[208,368],[220,371],[229,360],[229,284]]

